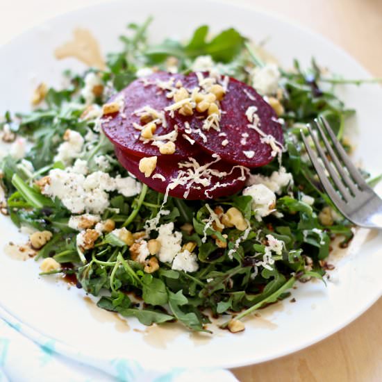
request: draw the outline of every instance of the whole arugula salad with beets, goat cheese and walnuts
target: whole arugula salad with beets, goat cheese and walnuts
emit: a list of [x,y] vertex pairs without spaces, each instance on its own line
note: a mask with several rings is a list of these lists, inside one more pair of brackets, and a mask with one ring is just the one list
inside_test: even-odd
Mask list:
[[282,69],[233,28],[151,44],[149,23],[106,69],[67,71],[4,115],[1,212],[34,230],[41,275],[75,278],[99,308],[240,332],[295,283],[326,282],[332,240],[353,237],[300,135],[324,116],[351,149],[346,81],[315,60]]

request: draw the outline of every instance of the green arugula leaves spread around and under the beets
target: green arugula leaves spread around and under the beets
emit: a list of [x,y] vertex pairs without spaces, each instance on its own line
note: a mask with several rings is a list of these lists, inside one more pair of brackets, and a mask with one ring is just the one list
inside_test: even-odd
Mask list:
[[[147,40],[150,22],[147,19],[142,25],[129,24],[128,33],[120,38],[122,50],[108,55],[107,69],[91,69],[108,87],[101,96],[94,97],[93,110],[137,78],[142,68],[168,69],[171,64],[173,70],[175,67],[178,72],[189,72],[195,59],[210,56],[221,74],[251,84],[254,70],[265,65],[247,38],[233,28],[210,38],[209,28],[204,25],[185,42],[166,39],[151,44]],[[344,242],[348,242],[352,237],[351,224],[338,213],[326,224],[320,218],[324,208],[326,212],[329,208],[333,215],[334,209],[306,160],[300,129],[314,118],[325,116],[335,127],[338,138],[343,138],[345,121],[354,113],[333,92],[333,86],[343,81],[335,78],[330,81],[315,60],[308,69],[295,61],[292,71],[281,70],[278,99],[285,120],[286,149],[282,165],[292,174],[294,183],[278,195],[277,213],[258,219],[252,197],[241,194],[208,201],[208,205],[205,201],[169,197],[163,206],[169,213],[160,217],[159,223],[173,222],[176,231],[182,234],[182,244],[194,243],[192,251],[197,255],[199,268],[190,273],[172,269],[170,263],[160,263],[155,272],[149,273],[147,264],[132,256],[131,243],[117,233],[100,235],[94,247],[83,251],[76,244],[78,232],[68,226],[71,213],[57,198],[42,195],[35,185],[51,169],[68,167],[54,159],[67,129],[85,138],[78,157],[85,160],[90,172],[100,170],[97,158],[104,156],[108,167],[103,171],[110,176],[128,176],[116,160],[113,146],[99,133],[97,119],[86,117],[89,105],[81,95],[85,74],[66,72],[70,85],[64,90],[49,89],[45,106],[30,113],[6,113],[0,123],[4,131],[10,126],[13,132],[32,142],[24,159],[33,168],[28,169],[25,160],[6,156],[1,161],[2,183],[8,213],[17,226],[53,233],[37,258],[53,258],[61,269],[46,274],[75,274],[85,292],[95,297],[102,295],[97,303],[99,308],[136,317],[145,325],[178,320],[193,331],[208,331],[207,310],[214,316],[237,314],[240,319],[287,297],[297,281],[322,279],[331,239],[342,235]],[[279,163],[274,160],[254,172],[270,176],[278,169]],[[304,202],[304,194],[313,198],[310,204]],[[101,220],[111,219],[118,229],[139,233],[149,219],[157,216],[162,204],[163,194],[146,185],[135,197],[111,192],[110,207],[103,211]],[[210,211],[219,208],[237,208],[251,226],[249,234],[244,236],[235,226],[219,229],[211,224]],[[156,231],[151,231],[145,239],[156,239],[156,235]],[[280,250],[269,249],[270,238],[281,240]],[[129,297],[132,294],[138,302]]]

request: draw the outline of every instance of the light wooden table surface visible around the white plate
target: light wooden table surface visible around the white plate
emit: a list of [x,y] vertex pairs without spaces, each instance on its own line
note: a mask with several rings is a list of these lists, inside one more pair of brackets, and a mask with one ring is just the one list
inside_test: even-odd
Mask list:
[[[382,0],[231,0],[322,33],[382,77]],[[1,0],[0,44],[67,10],[99,0]],[[240,381],[382,381],[382,299],[318,344],[260,365],[233,369]]]

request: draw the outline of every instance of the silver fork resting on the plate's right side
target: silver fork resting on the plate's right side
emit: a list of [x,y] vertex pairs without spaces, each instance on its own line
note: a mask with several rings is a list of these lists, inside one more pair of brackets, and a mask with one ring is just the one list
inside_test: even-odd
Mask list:
[[[382,199],[367,185],[358,169],[351,163],[326,119],[323,117],[315,119],[314,124],[321,135],[326,151],[319,144],[319,139],[313,133],[310,124],[307,128],[317,153],[310,147],[308,138],[302,130],[301,136],[319,180],[331,201],[342,215],[357,226],[382,229]],[[331,161],[327,158],[327,154]]]

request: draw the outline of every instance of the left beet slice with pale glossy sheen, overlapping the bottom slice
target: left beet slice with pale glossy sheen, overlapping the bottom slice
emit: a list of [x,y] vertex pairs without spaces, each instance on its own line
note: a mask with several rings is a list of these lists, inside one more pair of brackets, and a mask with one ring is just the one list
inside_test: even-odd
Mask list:
[[[151,142],[144,143],[140,140],[140,131],[134,127],[134,124],[142,125],[145,122],[140,121],[140,116],[135,115],[137,110],[149,106],[164,115],[164,108],[173,102],[166,97],[167,90],[158,86],[158,82],[165,84],[173,78],[173,86],[179,79],[184,77],[181,74],[169,74],[167,72],[156,72],[144,78],[133,81],[122,92],[115,94],[108,102],[122,100],[124,107],[118,113],[106,115],[101,119],[101,126],[106,136],[115,144],[115,146],[127,151],[135,156],[163,156],[167,160],[181,160],[197,153],[188,140],[178,133],[176,139],[176,151],[171,155],[163,155],[158,147],[153,146]],[[162,124],[157,125],[155,134],[165,135],[174,131],[174,124],[169,124],[167,128]]]

